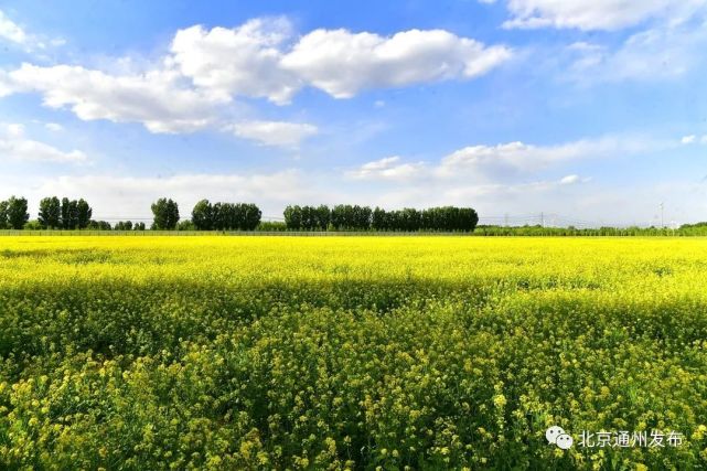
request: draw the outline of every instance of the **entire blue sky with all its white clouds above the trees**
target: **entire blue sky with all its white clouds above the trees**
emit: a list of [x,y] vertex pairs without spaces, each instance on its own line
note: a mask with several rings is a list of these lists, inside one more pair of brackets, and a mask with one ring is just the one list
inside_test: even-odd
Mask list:
[[6,0],[0,199],[704,221],[704,51],[707,0]]

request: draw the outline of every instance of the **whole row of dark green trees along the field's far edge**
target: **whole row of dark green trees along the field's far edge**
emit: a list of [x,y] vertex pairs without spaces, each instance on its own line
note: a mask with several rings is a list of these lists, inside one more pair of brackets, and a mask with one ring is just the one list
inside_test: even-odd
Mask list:
[[[201,200],[191,218],[180,221],[179,205],[168,197],[150,206],[157,231],[392,231],[392,232],[472,232],[479,215],[471,207],[442,206],[427,210],[406,207],[386,211],[381,207],[339,204],[333,207],[287,206],[285,222],[260,221],[263,212],[253,203],[212,203]],[[40,202],[39,217],[30,222],[28,201],[12,196],[0,202],[0,228],[13,229],[93,229],[146,231],[142,222],[119,221],[111,226],[94,221],[93,208],[84,199],[49,196]]]

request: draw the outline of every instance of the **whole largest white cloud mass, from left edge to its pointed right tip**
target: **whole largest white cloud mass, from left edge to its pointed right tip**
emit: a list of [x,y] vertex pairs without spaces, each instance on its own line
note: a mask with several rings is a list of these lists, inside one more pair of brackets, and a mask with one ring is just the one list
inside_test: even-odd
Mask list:
[[234,113],[226,111],[240,97],[286,105],[304,86],[346,98],[367,88],[470,79],[510,56],[505,46],[443,30],[392,36],[317,30],[296,38],[283,18],[255,19],[233,29],[179,30],[169,53],[138,72],[24,63],[0,71],[0,96],[38,93],[45,106],[69,109],[83,120],[139,122],[156,133],[227,129],[263,144],[294,147],[315,126],[237,117],[234,124],[225,118]]

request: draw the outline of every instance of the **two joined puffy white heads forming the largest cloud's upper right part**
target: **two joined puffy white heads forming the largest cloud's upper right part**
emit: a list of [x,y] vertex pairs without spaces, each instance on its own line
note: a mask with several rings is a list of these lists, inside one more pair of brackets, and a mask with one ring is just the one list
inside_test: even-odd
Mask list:
[[511,56],[443,30],[409,30],[384,38],[346,30],[315,30],[293,40],[286,19],[256,19],[234,28],[180,30],[173,64],[193,83],[223,96],[266,97],[287,104],[303,86],[336,98],[363,89],[469,79]]

